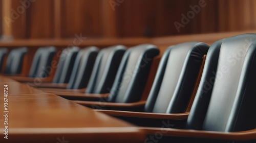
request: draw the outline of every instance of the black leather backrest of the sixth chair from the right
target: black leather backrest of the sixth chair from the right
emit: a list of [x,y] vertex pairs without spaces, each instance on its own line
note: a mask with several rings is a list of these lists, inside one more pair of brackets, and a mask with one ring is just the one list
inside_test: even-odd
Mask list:
[[59,57],[53,83],[68,83],[74,66],[79,47],[72,46],[64,49]]

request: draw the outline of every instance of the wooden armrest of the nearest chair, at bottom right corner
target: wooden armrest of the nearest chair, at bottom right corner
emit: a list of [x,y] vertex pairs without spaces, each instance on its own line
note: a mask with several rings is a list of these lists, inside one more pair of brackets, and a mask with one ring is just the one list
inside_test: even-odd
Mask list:
[[193,138],[211,138],[225,140],[252,140],[256,139],[256,129],[241,131],[241,132],[215,132],[215,131],[199,131],[199,130],[184,130],[172,128],[149,128],[140,127],[146,134],[155,134],[161,132],[163,136],[182,136]]

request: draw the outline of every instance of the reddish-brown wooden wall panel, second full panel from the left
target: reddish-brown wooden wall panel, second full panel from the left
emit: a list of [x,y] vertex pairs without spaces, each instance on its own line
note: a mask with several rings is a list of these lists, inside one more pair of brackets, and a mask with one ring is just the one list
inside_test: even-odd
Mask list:
[[102,6],[100,0],[62,0],[61,36],[75,38],[102,36]]

